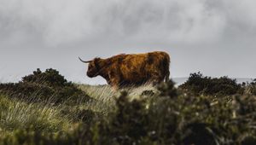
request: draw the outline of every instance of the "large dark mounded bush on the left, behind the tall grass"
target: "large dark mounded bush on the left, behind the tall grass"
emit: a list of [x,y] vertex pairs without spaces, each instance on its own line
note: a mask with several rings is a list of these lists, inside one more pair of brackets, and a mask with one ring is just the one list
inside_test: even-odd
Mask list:
[[44,73],[38,69],[19,83],[0,84],[0,93],[32,102],[79,102],[90,99],[84,91],[79,90],[55,69],[46,69]]

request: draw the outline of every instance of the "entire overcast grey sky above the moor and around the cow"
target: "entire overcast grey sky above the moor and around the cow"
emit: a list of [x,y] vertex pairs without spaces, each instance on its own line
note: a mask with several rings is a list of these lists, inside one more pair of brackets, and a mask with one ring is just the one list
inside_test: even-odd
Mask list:
[[256,78],[255,0],[0,0],[0,81],[53,67],[87,78],[96,56],[164,50],[172,78]]

